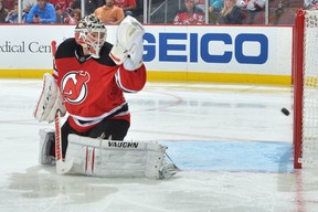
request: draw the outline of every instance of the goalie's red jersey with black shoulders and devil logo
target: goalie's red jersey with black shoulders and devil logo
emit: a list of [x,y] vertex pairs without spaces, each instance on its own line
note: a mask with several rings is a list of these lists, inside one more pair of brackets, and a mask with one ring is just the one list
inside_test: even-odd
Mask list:
[[56,78],[70,114],[70,125],[77,131],[86,131],[104,118],[120,118],[130,121],[124,92],[142,89],[146,68],[126,71],[108,56],[112,44],[105,43],[100,57],[81,56],[81,46],[75,39],[59,45],[55,54]]

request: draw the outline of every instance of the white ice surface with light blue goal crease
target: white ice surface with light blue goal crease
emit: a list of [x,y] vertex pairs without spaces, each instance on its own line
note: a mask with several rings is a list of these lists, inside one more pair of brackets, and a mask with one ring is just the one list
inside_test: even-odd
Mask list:
[[158,140],[169,180],[57,176],[38,165],[41,81],[0,80],[1,212],[317,212],[318,171],[293,169],[292,89],[147,84],[127,139]]

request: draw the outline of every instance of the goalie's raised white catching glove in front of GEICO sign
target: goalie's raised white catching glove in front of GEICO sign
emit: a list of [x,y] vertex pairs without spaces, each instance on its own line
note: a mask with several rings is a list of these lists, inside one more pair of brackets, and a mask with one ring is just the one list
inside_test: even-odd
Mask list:
[[144,26],[132,17],[126,17],[117,28],[117,40],[109,56],[117,65],[134,71],[142,65]]

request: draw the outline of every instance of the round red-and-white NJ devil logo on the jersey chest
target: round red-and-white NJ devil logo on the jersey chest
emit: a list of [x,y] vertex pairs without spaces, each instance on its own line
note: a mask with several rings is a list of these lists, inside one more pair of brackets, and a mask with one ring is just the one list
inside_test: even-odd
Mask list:
[[61,82],[64,99],[72,104],[82,103],[87,96],[89,77],[84,71],[68,72]]

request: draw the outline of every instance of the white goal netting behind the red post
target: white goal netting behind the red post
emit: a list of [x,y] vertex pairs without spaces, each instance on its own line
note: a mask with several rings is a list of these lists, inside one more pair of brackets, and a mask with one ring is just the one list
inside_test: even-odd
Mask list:
[[303,63],[303,167],[318,167],[318,11],[306,11]]

